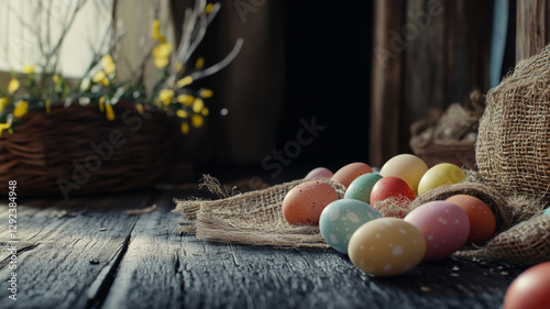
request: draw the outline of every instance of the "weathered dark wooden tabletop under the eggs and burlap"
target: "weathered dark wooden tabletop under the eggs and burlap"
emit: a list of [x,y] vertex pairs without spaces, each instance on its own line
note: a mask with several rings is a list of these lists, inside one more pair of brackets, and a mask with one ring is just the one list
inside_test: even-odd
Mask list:
[[[201,195],[18,199],[18,243],[9,243],[4,197],[0,308],[487,309],[502,307],[510,282],[526,268],[447,258],[399,277],[373,278],[333,250],[198,241],[175,232],[183,220],[170,210],[173,198]],[[128,213],[152,205],[152,212]]]

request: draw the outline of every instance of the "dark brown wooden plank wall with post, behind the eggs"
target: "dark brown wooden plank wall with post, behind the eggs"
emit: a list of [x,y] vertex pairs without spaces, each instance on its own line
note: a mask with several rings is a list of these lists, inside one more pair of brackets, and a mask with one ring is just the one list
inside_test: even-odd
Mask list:
[[375,2],[371,164],[411,153],[409,126],[429,108],[488,90],[492,15],[493,1]]

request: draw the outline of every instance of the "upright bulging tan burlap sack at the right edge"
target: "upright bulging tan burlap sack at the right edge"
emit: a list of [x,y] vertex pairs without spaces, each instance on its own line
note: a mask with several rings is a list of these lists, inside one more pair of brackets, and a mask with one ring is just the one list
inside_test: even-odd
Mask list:
[[476,162],[502,194],[550,201],[550,45],[488,91]]

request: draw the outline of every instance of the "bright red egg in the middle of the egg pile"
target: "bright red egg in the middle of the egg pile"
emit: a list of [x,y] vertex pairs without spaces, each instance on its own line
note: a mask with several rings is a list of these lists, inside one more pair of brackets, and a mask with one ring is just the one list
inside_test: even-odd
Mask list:
[[393,198],[400,206],[407,206],[415,200],[415,191],[405,180],[395,176],[386,176],[376,181],[371,190],[371,205]]

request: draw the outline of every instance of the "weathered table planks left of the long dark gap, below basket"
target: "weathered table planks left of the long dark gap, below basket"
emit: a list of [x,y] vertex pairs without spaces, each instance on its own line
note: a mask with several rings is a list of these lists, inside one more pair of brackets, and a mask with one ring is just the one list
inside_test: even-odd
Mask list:
[[[32,246],[18,254],[18,300],[8,299],[2,284],[2,308],[88,308],[100,302],[138,219],[122,211],[143,207],[150,195],[20,201],[18,246]],[[0,222],[8,222],[3,212]],[[8,224],[0,225],[2,283],[12,272],[11,256],[4,255],[7,230]]]

